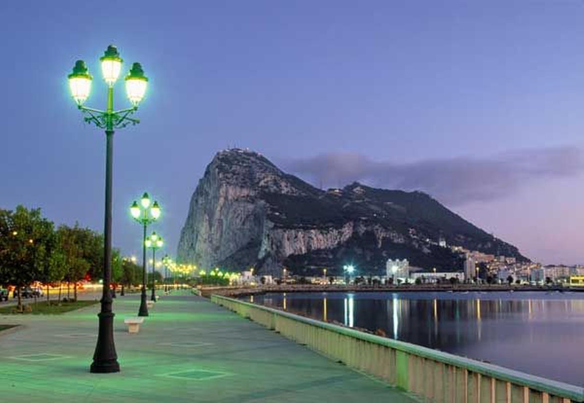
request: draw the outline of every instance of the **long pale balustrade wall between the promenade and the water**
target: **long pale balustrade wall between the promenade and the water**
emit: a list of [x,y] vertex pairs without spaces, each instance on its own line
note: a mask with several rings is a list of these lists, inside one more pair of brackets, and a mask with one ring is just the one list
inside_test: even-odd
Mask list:
[[584,402],[584,389],[219,295],[211,301],[432,402]]

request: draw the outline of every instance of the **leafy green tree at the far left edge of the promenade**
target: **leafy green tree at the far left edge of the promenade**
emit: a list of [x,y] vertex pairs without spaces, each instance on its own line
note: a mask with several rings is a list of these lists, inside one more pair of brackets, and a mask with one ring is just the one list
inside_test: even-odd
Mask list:
[[0,210],[0,283],[16,286],[19,311],[20,289],[50,270],[54,248],[53,223],[41,217],[40,209]]

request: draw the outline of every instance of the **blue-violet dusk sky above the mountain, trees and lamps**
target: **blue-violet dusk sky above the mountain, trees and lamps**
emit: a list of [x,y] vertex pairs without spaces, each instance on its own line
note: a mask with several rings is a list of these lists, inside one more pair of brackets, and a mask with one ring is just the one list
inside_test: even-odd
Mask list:
[[[423,190],[542,263],[584,263],[584,2],[0,2],[0,208],[103,229],[99,57],[150,78],[114,135],[113,242],[140,255],[147,191],[175,255],[214,154],[261,152],[320,186]],[[116,109],[128,107],[122,80]]]

